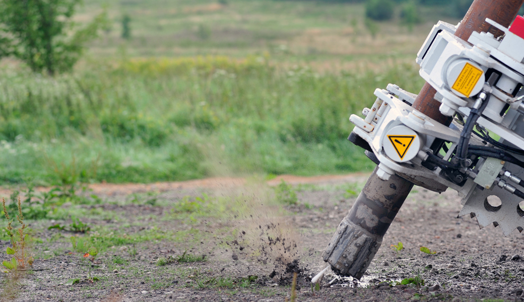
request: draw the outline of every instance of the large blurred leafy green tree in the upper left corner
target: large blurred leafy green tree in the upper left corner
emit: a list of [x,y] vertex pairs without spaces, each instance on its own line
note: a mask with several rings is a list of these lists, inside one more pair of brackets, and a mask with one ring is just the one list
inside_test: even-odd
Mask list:
[[76,29],[71,20],[82,0],[0,0],[0,58],[26,62],[35,72],[69,71],[80,59],[85,43],[106,24],[105,12]]

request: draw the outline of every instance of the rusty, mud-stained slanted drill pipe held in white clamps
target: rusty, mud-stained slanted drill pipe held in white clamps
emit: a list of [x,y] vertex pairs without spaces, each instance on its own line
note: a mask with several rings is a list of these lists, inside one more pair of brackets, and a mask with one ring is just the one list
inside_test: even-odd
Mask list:
[[[487,31],[496,37],[502,33],[485,22],[486,18],[509,27],[524,0],[475,0],[461,21],[455,35],[467,41],[473,31]],[[435,90],[425,83],[413,108],[449,126],[452,118],[439,111]],[[397,215],[413,184],[392,175],[383,181],[376,174],[369,177],[361,194],[342,220],[333,238],[322,253],[325,262],[340,275],[360,279],[377,253],[382,239]]]

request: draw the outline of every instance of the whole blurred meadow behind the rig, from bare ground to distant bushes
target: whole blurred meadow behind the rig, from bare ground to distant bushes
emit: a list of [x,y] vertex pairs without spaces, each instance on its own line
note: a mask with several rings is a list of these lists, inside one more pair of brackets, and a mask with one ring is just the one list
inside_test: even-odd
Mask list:
[[372,169],[346,140],[348,117],[388,83],[418,92],[414,55],[442,10],[422,7],[412,31],[378,24],[376,37],[347,3],[93,0],[75,18],[102,7],[111,26],[72,73],[1,63],[0,183]]

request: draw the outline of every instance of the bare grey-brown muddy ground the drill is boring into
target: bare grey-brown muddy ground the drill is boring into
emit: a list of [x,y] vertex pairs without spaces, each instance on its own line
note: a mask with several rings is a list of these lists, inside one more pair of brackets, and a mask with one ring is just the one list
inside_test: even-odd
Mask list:
[[[312,291],[311,276],[325,267],[320,255],[366,178],[288,177],[298,195],[297,205],[273,200],[280,180],[97,185],[90,193],[98,196],[97,202],[63,205],[70,209],[69,216],[82,215],[91,231],[48,230],[57,223],[67,225],[68,219],[29,222],[35,238],[33,271],[17,279],[3,274],[2,298],[285,301],[291,299],[292,272],[298,270],[296,301],[521,299],[523,235],[515,231],[504,237],[493,226],[479,229],[475,218],[457,218],[461,205],[456,192],[439,195],[420,187],[409,195],[361,282],[341,278],[330,285],[335,275],[328,270],[320,290]],[[188,200],[225,204],[204,211],[191,208],[195,204]],[[72,247],[72,236],[97,238],[91,241],[96,244],[105,240],[111,246],[101,249],[91,263]],[[391,247],[398,242],[404,249]],[[0,249],[7,246],[4,240]],[[420,247],[436,253],[425,254]],[[179,261],[184,252],[193,258]],[[294,266],[286,266],[293,260],[298,260]],[[97,278],[94,283],[81,279],[67,284],[72,278],[85,278],[89,266]],[[423,284],[396,285],[410,277]]]

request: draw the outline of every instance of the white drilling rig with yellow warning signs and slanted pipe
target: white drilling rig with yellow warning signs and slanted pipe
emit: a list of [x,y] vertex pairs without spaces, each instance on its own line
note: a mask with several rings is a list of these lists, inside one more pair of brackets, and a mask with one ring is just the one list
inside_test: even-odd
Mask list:
[[389,84],[351,116],[348,139],[377,167],[322,253],[335,273],[362,277],[413,185],[456,190],[481,228],[524,230],[523,2],[475,0],[458,25],[439,21],[417,54],[420,93]]

